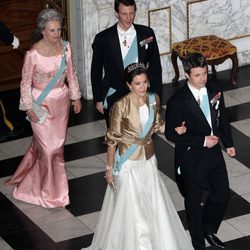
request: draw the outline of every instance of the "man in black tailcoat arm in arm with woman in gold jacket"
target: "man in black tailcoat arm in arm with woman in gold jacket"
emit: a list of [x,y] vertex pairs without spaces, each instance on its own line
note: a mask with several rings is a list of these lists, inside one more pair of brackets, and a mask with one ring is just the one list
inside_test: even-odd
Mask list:
[[[167,103],[166,138],[175,143],[175,170],[185,199],[189,232],[195,250],[205,249],[206,239],[217,249],[225,248],[215,235],[230,198],[228,175],[220,141],[235,156],[230,124],[222,92],[206,86],[207,63],[199,53],[184,59],[187,84]],[[186,133],[175,127],[185,121]],[[207,194],[202,204],[204,191]]]

